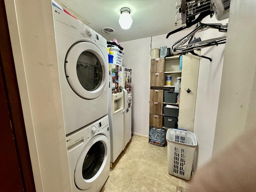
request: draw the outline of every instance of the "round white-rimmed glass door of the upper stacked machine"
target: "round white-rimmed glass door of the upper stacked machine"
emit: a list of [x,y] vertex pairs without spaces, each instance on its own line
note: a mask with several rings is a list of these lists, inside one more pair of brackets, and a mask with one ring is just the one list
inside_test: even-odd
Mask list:
[[67,53],[66,78],[78,96],[94,99],[100,96],[107,86],[106,66],[106,59],[99,48],[90,42],[79,42]]

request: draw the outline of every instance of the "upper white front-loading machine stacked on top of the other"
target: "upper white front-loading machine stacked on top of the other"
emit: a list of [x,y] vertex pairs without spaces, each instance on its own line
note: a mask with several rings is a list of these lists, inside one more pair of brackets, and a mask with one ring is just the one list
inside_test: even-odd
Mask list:
[[108,52],[102,36],[52,7],[66,135],[108,114]]

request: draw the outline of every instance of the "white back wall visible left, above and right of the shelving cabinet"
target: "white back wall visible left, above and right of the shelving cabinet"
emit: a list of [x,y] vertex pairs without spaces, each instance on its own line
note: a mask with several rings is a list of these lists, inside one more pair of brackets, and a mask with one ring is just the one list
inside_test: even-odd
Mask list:
[[[215,17],[204,19],[206,23],[219,23]],[[228,20],[223,20],[226,24]],[[174,42],[187,35],[193,27],[172,34],[152,37],[152,48],[171,47]],[[208,29],[196,34],[202,40],[224,36],[218,30]],[[123,66],[132,68],[133,132],[148,136],[149,92],[150,92],[150,38],[122,42],[124,47]],[[201,54],[212,58],[212,62],[200,58],[198,89],[194,119],[194,133],[198,140],[198,166],[204,165],[212,158],[216,116],[220,93],[220,81],[225,44],[201,50]]]

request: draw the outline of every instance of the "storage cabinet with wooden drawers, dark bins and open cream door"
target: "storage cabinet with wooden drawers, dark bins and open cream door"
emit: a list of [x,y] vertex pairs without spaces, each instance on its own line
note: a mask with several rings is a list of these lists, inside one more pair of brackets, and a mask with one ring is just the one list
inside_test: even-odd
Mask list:
[[[193,55],[150,60],[149,132],[152,128],[193,131],[198,69],[199,58]],[[174,92],[177,79],[180,93]]]

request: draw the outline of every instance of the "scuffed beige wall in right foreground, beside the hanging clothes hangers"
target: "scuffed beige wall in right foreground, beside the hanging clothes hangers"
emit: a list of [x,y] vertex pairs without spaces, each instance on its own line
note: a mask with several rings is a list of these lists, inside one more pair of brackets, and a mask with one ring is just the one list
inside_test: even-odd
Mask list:
[[255,0],[232,0],[213,156],[256,125]]

